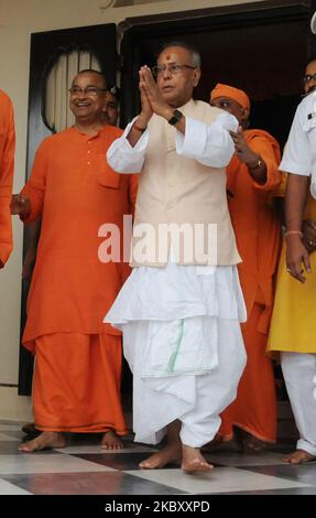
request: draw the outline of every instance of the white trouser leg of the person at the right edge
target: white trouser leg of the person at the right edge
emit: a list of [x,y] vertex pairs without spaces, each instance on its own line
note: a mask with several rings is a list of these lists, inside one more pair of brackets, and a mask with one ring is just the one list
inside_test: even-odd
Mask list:
[[299,432],[296,447],[316,455],[316,354],[282,353],[281,365]]

